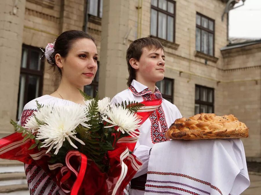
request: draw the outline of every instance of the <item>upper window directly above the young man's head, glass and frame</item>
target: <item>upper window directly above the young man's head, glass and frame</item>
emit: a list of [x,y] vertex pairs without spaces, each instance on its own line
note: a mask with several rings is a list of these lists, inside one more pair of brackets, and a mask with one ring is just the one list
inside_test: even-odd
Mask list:
[[151,35],[175,41],[175,1],[151,0]]

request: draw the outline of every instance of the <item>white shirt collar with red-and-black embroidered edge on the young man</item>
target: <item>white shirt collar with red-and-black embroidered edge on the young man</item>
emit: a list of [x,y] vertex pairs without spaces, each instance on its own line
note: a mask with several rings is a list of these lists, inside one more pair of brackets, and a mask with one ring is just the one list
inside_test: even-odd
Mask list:
[[[131,82],[131,86],[128,88],[134,95],[137,95],[137,96],[142,96],[142,95],[145,95],[145,94],[153,94],[152,91],[145,85],[141,84],[140,82],[137,82],[136,80],[133,80]],[[155,88],[155,93],[154,95],[157,97],[157,98],[162,98],[162,95],[160,93],[160,90],[157,88]]]

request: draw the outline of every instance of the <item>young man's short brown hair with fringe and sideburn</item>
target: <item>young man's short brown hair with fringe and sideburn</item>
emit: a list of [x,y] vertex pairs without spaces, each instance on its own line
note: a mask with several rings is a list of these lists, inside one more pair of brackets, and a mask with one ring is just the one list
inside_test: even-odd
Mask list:
[[144,47],[148,48],[149,50],[151,50],[152,48],[164,50],[161,42],[151,37],[144,37],[133,41],[128,47],[126,52],[126,61],[128,64],[128,72],[129,72],[128,82],[127,82],[128,86],[131,86],[131,82],[133,81],[133,79],[136,79],[136,72],[135,69],[131,67],[130,59],[134,58],[139,61],[139,58],[142,55],[142,49]]

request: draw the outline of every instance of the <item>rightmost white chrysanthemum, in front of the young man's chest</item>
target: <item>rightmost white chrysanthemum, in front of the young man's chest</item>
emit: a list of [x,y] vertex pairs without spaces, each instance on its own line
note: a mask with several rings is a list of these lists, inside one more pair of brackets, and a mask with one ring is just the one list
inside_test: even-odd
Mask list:
[[137,118],[136,114],[133,114],[128,109],[116,106],[113,106],[106,114],[109,119],[106,117],[103,117],[103,119],[112,124],[111,126],[107,126],[107,128],[118,126],[117,131],[126,132],[132,137],[138,137],[136,134],[139,134],[139,132],[135,130],[140,127],[139,123],[141,120]]

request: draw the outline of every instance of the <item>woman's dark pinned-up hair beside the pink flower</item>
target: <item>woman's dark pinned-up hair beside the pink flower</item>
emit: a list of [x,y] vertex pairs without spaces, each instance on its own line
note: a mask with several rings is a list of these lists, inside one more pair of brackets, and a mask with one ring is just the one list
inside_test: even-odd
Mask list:
[[[61,35],[59,35],[59,37],[57,37],[55,41],[54,52],[50,56],[50,60],[47,60],[48,63],[51,65],[51,68],[53,67],[54,70],[58,68],[57,64],[55,63],[55,55],[57,53],[59,53],[61,57],[66,57],[68,55],[68,52],[72,48],[73,43],[77,39],[84,39],[84,38],[90,39],[95,43],[95,39],[91,35],[87,34],[86,32],[82,32],[80,30],[68,30],[61,33]],[[58,70],[59,73],[61,74],[61,69],[58,68]]]

